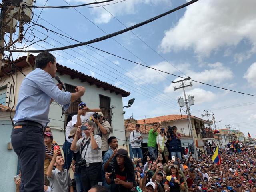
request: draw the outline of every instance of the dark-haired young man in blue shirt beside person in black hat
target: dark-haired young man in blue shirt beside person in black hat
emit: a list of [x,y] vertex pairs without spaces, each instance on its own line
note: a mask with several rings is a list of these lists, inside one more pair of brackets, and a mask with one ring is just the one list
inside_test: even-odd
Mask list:
[[[108,151],[106,151],[106,153],[103,156],[103,164],[102,164],[103,183],[102,184],[105,187],[107,187],[108,190],[110,191],[110,185],[107,184],[106,179],[105,179],[105,172],[106,172],[106,170],[108,170],[108,165],[113,160],[113,158],[116,155],[117,150],[118,150],[118,141],[117,141],[116,137],[112,136],[112,137],[108,138],[108,145],[110,146],[110,149]],[[108,170],[108,172],[110,172],[110,170]]]

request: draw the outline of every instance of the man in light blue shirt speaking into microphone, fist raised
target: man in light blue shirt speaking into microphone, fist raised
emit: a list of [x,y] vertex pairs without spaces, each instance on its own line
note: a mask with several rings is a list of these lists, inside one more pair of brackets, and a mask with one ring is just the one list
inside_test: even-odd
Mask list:
[[36,69],[22,81],[11,134],[12,146],[20,160],[20,192],[44,191],[45,145],[43,129],[50,122],[48,114],[53,100],[68,109],[71,102],[84,95],[85,88],[75,93],[62,92],[61,84],[52,80],[57,71],[56,58],[42,52],[36,56]]

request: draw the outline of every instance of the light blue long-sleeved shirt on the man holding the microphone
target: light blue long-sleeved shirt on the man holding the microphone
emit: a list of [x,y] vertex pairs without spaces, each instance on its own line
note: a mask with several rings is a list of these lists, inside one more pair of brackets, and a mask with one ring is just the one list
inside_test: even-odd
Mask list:
[[48,72],[36,68],[22,81],[14,122],[30,120],[46,126],[50,122],[51,98],[64,105],[65,110],[70,106],[71,93],[62,92]]

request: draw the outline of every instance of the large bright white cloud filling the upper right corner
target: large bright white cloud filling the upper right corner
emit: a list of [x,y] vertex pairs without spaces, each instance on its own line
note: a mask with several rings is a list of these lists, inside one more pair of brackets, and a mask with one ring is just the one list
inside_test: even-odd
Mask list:
[[184,16],[176,26],[165,32],[160,49],[167,53],[193,48],[202,57],[209,56],[212,51],[217,51],[222,46],[236,46],[243,39],[248,40],[254,47],[255,6],[255,0],[196,2],[186,8]]

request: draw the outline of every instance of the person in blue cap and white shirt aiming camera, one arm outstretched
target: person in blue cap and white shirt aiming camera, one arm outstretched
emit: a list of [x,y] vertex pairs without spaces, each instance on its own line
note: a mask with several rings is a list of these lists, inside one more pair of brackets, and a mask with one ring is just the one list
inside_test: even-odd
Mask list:
[[78,104],[77,115],[74,115],[72,117],[72,125],[74,127],[81,126],[82,124],[84,124],[85,122],[90,120],[90,116],[92,116],[95,112],[100,112],[100,108],[99,109],[89,109],[86,106],[86,103],[81,102],[80,104]]

